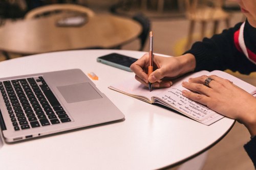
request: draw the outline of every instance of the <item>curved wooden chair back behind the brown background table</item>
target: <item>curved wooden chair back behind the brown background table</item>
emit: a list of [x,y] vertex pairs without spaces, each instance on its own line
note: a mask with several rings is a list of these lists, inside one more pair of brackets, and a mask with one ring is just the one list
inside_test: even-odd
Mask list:
[[88,17],[92,17],[95,15],[91,9],[80,6],[80,5],[53,4],[53,5],[47,5],[47,6],[42,6],[42,7],[32,9],[25,15],[25,19],[51,16],[58,12],[64,12],[64,11],[82,13],[82,14],[86,14]]

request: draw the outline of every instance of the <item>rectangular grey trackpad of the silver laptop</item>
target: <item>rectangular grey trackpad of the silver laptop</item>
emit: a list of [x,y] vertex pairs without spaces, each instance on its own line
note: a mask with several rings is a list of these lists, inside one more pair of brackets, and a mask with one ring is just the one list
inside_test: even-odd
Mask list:
[[58,86],[67,103],[82,102],[102,98],[102,96],[90,85],[90,83],[79,83],[68,86]]

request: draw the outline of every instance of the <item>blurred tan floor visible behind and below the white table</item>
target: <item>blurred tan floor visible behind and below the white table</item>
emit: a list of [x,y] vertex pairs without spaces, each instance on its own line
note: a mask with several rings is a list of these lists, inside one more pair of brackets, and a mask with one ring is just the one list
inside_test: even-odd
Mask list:
[[[101,3],[98,3],[101,2]],[[96,13],[108,13],[108,9],[113,1],[87,1],[89,7]],[[146,11],[147,13],[150,11]],[[163,16],[159,14],[159,16]],[[168,17],[166,17],[168,16]],[[243,19],[243,16],[239,12],[232,13],[231,26],[236,22]],[[184,45],[186,42],[186,34],[188,29],[188,21],[182,17],[172,17],[172,15],[164,15],[164,17],[152,17],[152,31],[154,33],[154,52],[160,54],[166,54],[171,56],[178,56],[184,52]],[[208,26],[209,28],[211,25]],[[223,26],[221,25],[223,28]],[[199,30],[198,28],[196,30]],[[221,31],[222,29],[220,29]],[[195,38],[197,38],[195,33]],[[139,42],[134,41],[130,44],[123,46],[125,50],[137,50]],[[144,48],[146,52],[147,45]],[[19,55],[11,54],[11,58],[19,57]],[[0,55],[0,61],[3,61],[4,57]],[[248,81],[256,86],[256,81],[252,81],[250,77],[235,74],[236,76]],[[256,79],[255,74],[251,75]],[[255,80],[254,79],[254,80]],[[254,169],[253,164],[246,152],[243,149],[243,145],[249,141],[250,135],[246,128],[236,123],[231,131],[214,147],[209,149],[206,161],[202,167],[203,170],[219,169],[219,170],[241,170],[241,169]],[[178,169],[179,167],[167,168]],[[195,169],[191,167],[190,169]]]

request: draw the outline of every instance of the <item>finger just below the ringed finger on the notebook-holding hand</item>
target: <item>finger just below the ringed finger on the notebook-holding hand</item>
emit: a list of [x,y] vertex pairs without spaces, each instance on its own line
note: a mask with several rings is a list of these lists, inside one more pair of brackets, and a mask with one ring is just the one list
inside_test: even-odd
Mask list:
[[207,87],[203,84],[182,82],[182,86],[189,89],[189,90],[192,90],[192,91],[195,91],[195,92],[198,92],[200,94],[207,95],[207,96],[209,96],[209,94],[212,92],[211,88],[209,88],[209,87]]

